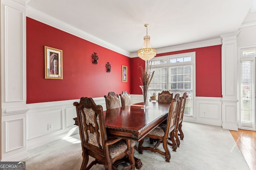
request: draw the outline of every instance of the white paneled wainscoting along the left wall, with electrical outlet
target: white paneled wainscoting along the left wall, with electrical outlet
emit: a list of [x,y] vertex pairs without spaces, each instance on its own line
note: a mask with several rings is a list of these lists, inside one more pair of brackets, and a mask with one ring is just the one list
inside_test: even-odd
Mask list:
[[[104,97],[93,99],[106,110]],[[73,120],[76,117],[73,103],[79,101],[80,99],[27,104],[27,150],[79,133]]]

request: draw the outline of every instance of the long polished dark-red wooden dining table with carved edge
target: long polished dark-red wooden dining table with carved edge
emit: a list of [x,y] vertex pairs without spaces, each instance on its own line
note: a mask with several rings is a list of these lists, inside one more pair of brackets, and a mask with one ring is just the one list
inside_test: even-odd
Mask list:
[[[142,102],[104,111],[107,133],[139,142],[167,118],[170,104],[148,102],[149,109],[142,109],[143,106]],[[74,125],[78,125],[74,120]],[[135,158],[135,163],[140,169],[141,160]]]

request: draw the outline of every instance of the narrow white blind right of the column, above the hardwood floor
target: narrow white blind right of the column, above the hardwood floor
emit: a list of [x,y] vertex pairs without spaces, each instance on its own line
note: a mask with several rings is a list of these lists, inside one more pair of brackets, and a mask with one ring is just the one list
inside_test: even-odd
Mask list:
[[253,61],[241,62],[241,127],[253,127]]

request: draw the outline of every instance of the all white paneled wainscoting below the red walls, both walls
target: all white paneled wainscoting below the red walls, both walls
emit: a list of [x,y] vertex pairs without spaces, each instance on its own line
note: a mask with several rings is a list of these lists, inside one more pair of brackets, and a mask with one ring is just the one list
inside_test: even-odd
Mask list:
[[[142,95],[131,94],[130,97],[132,104],[143,102]],[[104,97],[93,98],[93,100],[106,110]],[[76,117],[76,107],[73,106],[73,103],[79,101],[78,99],[27,104],[29,108],[27,112],[27,149],[32,150],[79,133],[73,120]],[[196,97],[196,113],[193,122],[221,126],[221,119],[221,98]],[[184,121],[190,121],[190,119],[186,120],[184,117]],[[50,129],[49,124],[52,126]],[[17,144],[17,146],[19,145]]]

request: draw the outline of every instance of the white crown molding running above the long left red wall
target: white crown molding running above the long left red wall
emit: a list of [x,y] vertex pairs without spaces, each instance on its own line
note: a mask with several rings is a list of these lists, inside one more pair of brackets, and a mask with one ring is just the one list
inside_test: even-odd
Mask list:
[[103,41],[102,39],[95,37],[89,33],[86,33],[82,31],[81,29],[78,29],[72,25],[69,25],[63,21],[60,21],[48,14],[45,14],[43,12],[40,12],[36,10],[35,8],[32,8],[31,6],[27,6],[26,8],[26,16],[29,18],[32,18],[34,20],[40,21],[42,23],[45,23],[47,25],[50,25],[54,28],[60,29],[62,31],[65,31],[67,33],[70,33],[72,35],[75,35],[76,37],[80,37],[82,39],[85,39],[86,41],[90,41],[94,44],[100,45],[106,49],[110,49],[112,51],[115,51],[116,53],[120,53],[122,55],[125,55],[127,57],[130,57],[131,53],[128,51],[125,51],[119,47],[116,47],[115,45],[112,45],[106,41]]

